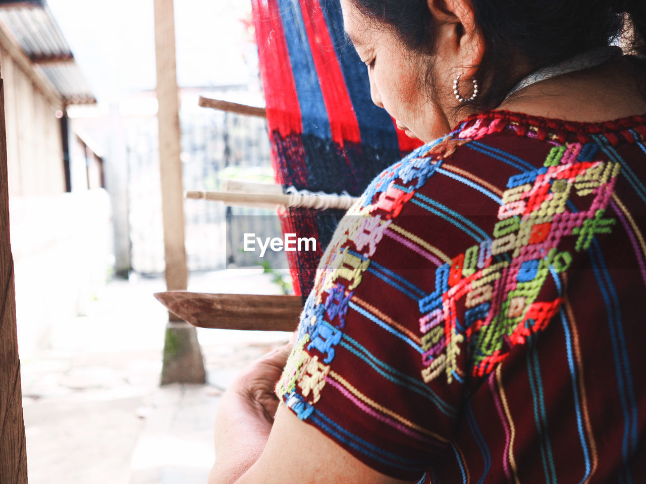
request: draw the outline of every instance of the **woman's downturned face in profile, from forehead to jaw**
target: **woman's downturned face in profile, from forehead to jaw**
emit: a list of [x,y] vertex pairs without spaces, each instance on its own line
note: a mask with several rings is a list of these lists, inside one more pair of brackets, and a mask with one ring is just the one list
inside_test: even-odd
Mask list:
[[[426,86],[427,63],[408,50],[390,26],[366,18],[349,0],[341,0],[341,6],[346,33],[368,68],[373,103],[385,108],[410,137],[428,142],[447,134],[451,126],[441,102]],[[433,70],[438,72],[441,59],[434,57]],[[446,86],[437,90],[454,100],[452,80],[446,77]]]

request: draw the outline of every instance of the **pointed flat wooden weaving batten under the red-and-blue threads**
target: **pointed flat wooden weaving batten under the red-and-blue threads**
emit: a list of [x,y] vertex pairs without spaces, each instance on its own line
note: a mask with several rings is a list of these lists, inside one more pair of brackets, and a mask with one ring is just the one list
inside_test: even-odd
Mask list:
[[167,291],[154,295],[193,326],[261,331],[293,331],[303,308],[300,296],[207,294]]

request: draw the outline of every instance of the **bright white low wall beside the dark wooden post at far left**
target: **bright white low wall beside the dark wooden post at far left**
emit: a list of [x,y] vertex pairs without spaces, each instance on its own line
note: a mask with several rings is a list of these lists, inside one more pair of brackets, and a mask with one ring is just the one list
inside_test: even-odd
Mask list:
[[21,358],[47,349],[52,325],[83,316],[105,284],[109,205],[103,189],[9,199]]

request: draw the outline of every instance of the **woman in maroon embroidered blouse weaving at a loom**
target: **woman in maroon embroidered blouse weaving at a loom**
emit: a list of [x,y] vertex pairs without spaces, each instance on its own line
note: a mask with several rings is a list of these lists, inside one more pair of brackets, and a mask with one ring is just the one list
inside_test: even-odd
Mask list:
[[645,481],[646,67],[609,47],[645,5],[342,8],[428,144],[340,224],[282,376],[227,391],[211,482]]

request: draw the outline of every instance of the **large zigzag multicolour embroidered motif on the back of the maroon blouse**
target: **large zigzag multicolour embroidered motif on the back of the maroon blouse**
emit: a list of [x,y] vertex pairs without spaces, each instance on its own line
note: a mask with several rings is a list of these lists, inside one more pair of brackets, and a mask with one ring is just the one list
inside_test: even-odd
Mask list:
[[[437,268],[435,292],[419,301],[424,381],[442,373],[453,381],[463,335],[470,341],[473,374],[484,376],[556,314],[559,298],[535,301],[550,270],[559,274],[570,266],[572,254],[559,250],[561,240],[578,236],[575,250],[587,250],[593,236],[609,233],[615,223],[603,214],[620,165],[580,161],[594,156],[594,148],[556,146],[544,168],[510,178],[492,239]],[[569,209],[570,197],[579,197],[577,205],[587,203],[588,210]],[[463,321],[456,309],[461,300],[467,308]]]

